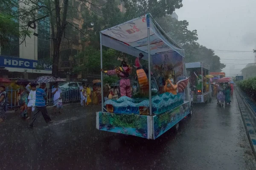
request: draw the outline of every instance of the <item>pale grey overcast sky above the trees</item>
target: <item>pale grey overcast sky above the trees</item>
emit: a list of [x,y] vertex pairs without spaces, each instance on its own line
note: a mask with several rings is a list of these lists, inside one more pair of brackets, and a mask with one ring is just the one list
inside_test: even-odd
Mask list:
[[[183,0],[175,12],[198,31],[198,42],[213,50],[253,51],[256,49],[256,0]],[[241,74],[246,63],[254,62],[253,52],[216,52],[226,76]],[[244,60],[226,60],[244,59]],[[243,65],[244,64],[244,65]]]

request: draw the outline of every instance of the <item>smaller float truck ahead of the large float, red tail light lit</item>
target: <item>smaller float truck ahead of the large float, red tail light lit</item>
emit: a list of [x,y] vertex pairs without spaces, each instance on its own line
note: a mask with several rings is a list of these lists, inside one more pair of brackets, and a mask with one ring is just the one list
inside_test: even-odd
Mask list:
[[212,88],[209,75],[209,65],[203,62],[186,63],[186,71],[192,85],[193,102],[204,103],[212,100]]

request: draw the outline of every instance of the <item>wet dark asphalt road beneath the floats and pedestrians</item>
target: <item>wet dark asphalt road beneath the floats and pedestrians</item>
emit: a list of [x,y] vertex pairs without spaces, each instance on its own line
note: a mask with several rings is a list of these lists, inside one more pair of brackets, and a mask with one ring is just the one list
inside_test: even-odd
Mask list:
[[180,130],[157,140],[96,130],[98,106],[67,106],[37,127],[9,115],[0,124],[0,169],[6,170],[256,170],[236,96],[220,108],[195,105]]

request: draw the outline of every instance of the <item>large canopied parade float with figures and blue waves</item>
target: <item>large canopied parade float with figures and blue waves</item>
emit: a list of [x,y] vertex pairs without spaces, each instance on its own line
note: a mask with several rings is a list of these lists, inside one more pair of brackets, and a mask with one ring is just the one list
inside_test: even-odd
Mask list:
[[[160,28],[151,14],[101,31],[100,42],[102,94],[105,85],[103,74],[108,73],[102,67],[102,45],[132,57],[143,54],[148,72],[137,68],[140,87],[137,97],[133,94],[132,98],[121,96],[117,100],[102,102],[102,111],[96,113],[97,129],[157,139],[170,128],[177,129],[179,122],[192,113],[192,93],[189,77],[185,75],[184,50]],[[119,66],[115,69],[117,75],[120,70],[122,67]],[[128,78],[132,81],[132,77],[135,76]],[[156,79],[163,81],[156,83]],[[156,84],[158,87],[154,86]]]

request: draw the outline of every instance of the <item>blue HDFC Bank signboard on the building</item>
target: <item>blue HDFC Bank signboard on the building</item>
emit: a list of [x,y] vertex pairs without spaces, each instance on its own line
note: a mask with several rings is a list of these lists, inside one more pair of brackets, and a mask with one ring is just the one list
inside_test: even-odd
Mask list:
[[0,56],[0,67],[52,70],[52,64],[49,65],[42,61],[7,56]]

